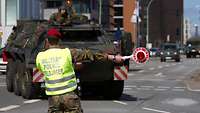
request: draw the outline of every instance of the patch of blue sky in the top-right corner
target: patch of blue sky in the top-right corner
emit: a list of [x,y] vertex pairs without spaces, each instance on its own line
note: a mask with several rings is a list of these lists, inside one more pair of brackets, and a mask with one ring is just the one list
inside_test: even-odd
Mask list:
[[184,0],[184,17],[200,25],[200,0]]

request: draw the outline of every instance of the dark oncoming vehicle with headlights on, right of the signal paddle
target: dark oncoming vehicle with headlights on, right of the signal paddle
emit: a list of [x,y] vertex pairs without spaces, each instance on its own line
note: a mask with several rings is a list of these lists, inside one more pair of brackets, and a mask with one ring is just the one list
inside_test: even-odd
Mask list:
[[180,62],[180,53],[176,43],[164,43],[161,46],[160,61],[175,60]]

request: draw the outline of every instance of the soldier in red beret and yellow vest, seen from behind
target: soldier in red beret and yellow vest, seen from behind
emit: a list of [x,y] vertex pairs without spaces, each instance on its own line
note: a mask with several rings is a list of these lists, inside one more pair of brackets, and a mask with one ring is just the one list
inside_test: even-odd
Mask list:
[[[37,68],[44,73],[46,94],[49,96],[48,113],[83,113],[79,97],[75,91],[77,81],[73,68],[76,52],[58,45],[61,33],[49,29],[45,47],[46,51],[38,53]],[[105,55],[105,59],[122,62],[121,56]],[[75,63],[80,69],[81,63]]]

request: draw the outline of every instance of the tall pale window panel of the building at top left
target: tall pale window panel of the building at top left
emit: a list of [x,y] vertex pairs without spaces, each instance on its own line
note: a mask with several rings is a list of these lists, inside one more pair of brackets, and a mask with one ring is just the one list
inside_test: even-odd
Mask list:
[[6,25],[15,25],[17,14],[17,0],[6,0]]

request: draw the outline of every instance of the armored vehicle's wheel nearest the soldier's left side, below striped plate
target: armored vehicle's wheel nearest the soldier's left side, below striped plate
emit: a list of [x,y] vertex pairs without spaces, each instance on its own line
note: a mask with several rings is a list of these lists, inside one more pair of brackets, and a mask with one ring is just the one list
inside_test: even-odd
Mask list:
[[25,99],[32,99],[38,94],[40,94],[40,85],[32,82],[31,70],[26,70],[22,77],[22,96]]

